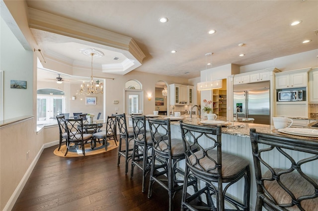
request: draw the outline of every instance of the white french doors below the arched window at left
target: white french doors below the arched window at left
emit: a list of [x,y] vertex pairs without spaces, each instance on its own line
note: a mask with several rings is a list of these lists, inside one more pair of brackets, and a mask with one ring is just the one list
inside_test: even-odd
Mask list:
[[63,96],[37,96],[37,124],[55,124],[56,115],[64,113]]

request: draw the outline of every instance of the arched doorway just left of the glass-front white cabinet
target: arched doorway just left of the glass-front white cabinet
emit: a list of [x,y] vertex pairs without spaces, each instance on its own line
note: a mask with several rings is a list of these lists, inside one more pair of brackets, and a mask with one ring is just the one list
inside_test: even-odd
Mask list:
[[155,110],[159,110],[159,115],[169,114],[169,85],[162,80],[155,84]]

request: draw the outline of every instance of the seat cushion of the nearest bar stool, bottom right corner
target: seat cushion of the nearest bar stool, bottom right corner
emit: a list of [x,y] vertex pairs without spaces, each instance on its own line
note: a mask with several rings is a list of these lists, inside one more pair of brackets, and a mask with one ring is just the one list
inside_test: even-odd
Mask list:
[[[274,168],[276,174],[283,169]],[[267,178],[272,178],[272,173],[268,170],[262,176]],[[313,195],[315,194],[315,187],[309,183],[304,177],[302,177],[296,170],[291,173],[283,174],[280,176],[280,180],[283,185],[285,185],[297,198],[305,195]],[[318,179],[314,179],[314,181],[318,184]],[[264,186],[268,190],[268,192],[274,197],[278,204],[290,204],[292,198],[290,195],[281,188],[281,186],[277,183],[276,180],[273,181],[264,181]],[[318,189],[316,190],[316,194],[318,194]],[[301,202],[302,207],[306,211],[315,211],[318,210],[318,198],[304,200]],[[293,206],[291,208],[286,208],[289,211],[299,211],[297,206]]]

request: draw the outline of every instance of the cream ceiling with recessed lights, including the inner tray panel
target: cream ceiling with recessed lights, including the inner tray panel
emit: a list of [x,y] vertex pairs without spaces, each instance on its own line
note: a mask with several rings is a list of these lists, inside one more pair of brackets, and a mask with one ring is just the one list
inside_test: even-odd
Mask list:
[[[201,70],[226,64],[245,66],[318,49],[317,0],[26,0],[26,3],[29,10],[41,10],[116,33],[118,37],[132,38],[144,54],[134,70],[168,76],[194,78],[200,76]],[[160,17],[167,17],[168,22],[160,23]],[[302,22],[291,26],[295,20]],[[44,59],[65,58],[64,62],[71,66],[86,63],[89,67],[91,58],[78,56],[85,47],[105,54],[94,60],[96,67],[114,65],[114,57],[121,64],[127,58],[134,60],[125,55],[127,51],[107,44],[83,43],[79,38],[30,28]],[[208,34],[211,29],[216,33]],[[312,41],[303,44],[306,39]],[[172,54],[171,50],[177,52]],[[206,56],[210,52],[213,55]],[[212,65],[206,65],[207,62]],[[107,77],[108,73],[102,75]]]

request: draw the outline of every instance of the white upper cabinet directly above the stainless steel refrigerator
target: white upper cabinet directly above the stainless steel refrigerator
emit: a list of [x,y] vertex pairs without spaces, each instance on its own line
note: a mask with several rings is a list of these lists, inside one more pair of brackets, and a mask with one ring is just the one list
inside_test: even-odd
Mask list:
[[266,70],[258,70],[253,72],[241,73],[234,75],[233,84],[243,84],[243,83],[254,83],[270,80],[270,72],[278,72],[280,70],[274,69],[266,69]]

